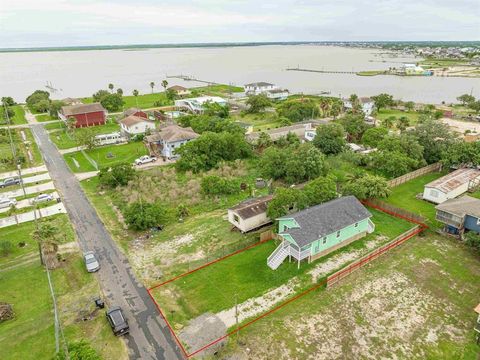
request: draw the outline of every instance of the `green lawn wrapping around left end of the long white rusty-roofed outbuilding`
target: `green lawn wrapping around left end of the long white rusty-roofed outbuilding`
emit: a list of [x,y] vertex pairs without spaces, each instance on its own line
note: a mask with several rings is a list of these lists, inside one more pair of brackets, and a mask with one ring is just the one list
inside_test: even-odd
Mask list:
[[423,189],[426,184],[444,175],[445,173],[434,172],[396,186],[392,188],[392,193],[385,201],[424,216],[428,219],[428,225],[439,227],[440,223],[435,220],[435,205],[425,200],[417,199],[416,195],[420,193],[423,194]]

